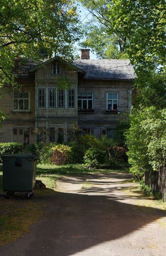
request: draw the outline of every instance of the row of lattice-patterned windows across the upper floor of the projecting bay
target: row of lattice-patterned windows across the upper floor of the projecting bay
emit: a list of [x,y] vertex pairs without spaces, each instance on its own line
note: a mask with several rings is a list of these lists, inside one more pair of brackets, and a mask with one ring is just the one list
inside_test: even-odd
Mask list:
[[[76,88],[37,88],[38,108],[76,108]],[[47,100],[46,100],[47,99]]]

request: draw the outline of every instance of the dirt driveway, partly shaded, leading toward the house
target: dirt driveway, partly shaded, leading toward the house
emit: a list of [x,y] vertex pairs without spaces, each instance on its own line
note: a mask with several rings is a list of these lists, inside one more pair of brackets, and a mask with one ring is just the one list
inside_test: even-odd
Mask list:
[[[131,174],[62,177],[30,233],[0,247],[2,256],[166,256],[166,215],[130,193]],[[127,189],[127,187],[130,189]],[[146,200],[146,199],[145,199]]]

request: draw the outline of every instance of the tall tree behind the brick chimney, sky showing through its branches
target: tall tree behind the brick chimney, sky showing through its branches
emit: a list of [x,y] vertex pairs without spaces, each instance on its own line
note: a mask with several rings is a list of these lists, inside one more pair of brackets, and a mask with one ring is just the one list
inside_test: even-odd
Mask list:
[[79,0],[85,9],[90,12],[93,19],[85,23],[82,28],[85,41],[80,43],[81,47],[90,48],[98,58],[128,58],[124,52],[126,38],[115,31],[110,35],[108,30],[111,26],[109,19],[109,0]]

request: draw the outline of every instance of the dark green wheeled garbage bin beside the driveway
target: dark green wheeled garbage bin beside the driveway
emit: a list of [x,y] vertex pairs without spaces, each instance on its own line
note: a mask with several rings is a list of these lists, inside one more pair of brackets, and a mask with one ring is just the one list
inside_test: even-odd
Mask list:
[[37,155],[34,154],[2,154],[3,191],[5,198],[14,192],[28,192],[26,199],[34,194],[36,182]]

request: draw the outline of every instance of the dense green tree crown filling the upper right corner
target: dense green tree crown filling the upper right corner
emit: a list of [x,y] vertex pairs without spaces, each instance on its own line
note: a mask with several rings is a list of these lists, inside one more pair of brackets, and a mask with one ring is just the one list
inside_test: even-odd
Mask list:
[[124,35],[125,50],[138,75],[142,70],[165,69],[165,6],[165,0],[114,0],[109,5],[109,33]]

